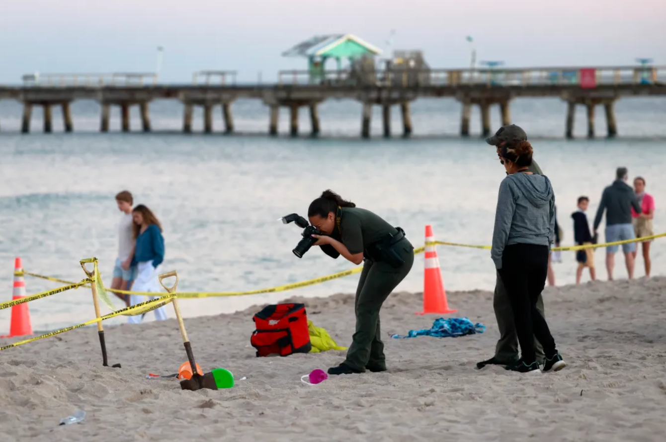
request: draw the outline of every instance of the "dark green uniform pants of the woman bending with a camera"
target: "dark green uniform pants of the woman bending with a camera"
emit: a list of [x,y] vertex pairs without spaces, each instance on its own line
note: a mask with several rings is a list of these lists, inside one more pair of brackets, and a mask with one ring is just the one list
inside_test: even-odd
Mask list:
[[[400,247],[406,244],[405,247]],[[408,247],[407,247],[408,246]],[[380,331],[379,311],[382,304],[402,281],[414,264],[414,247],[403,239],[396,247],[405,263],[395,269],[387,263],[367,261],[356,289],[356,332],[347,351],[346,365],[356,371],[366,371],[367,365],[386,367],[384,343]]]

